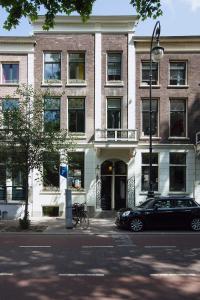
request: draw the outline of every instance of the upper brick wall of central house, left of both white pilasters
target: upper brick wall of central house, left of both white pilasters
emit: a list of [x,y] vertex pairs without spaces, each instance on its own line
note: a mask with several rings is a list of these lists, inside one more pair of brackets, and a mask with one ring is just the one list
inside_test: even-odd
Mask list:
[[[86,111],[86,136],[89,141],[94,134],[94,35],[93,34],[56,34],[35,35],[35,84],[42,88],[43,51],[61,51],[62,87],[54,87],[56,94],[65,92],[61,98],[61,127],[67,127],[67,97],[84,96]],[[86,87],[69,86],[67,83],[67,54],[69,51],[85,51]]]

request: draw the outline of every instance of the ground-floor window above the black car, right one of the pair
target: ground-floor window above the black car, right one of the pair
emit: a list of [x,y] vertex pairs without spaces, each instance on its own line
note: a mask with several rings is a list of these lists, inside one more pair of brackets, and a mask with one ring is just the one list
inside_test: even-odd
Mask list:
[[186,191],[186,154],[170,153],[170,191]]

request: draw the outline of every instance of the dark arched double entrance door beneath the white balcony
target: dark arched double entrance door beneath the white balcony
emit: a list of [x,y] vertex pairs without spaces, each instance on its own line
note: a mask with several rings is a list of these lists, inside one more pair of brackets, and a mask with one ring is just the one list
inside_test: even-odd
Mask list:
[[107,160],[101,165],[101,208],[126,207],[127,167],[123,161]]

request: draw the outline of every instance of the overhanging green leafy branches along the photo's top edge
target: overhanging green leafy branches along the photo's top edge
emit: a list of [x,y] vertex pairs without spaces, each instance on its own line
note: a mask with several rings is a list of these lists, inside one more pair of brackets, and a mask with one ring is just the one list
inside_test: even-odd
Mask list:
[[[30,21],[38,18],[41,8],[44,8],[45,23],[43,29],[50,29],[54,26],[54,18],[57,14],[70,15],[78,12],[83,21],[86,21],[92,13],[92,7],[96,0],[0,0],[0,5],[8,13],[4,22],[4,28],[10,30],[19,24],[22,17]],[[157,18],[162,15],[161,0],[130,0],[130,4],[136,9],[138,16],[145,20],[148,17]]]

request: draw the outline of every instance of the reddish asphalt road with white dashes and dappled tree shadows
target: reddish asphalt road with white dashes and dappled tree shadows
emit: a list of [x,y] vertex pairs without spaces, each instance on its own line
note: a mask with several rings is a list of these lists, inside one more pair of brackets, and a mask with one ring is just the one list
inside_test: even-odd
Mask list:
[[0,234],[0,300],[199,300],[200,234]]

